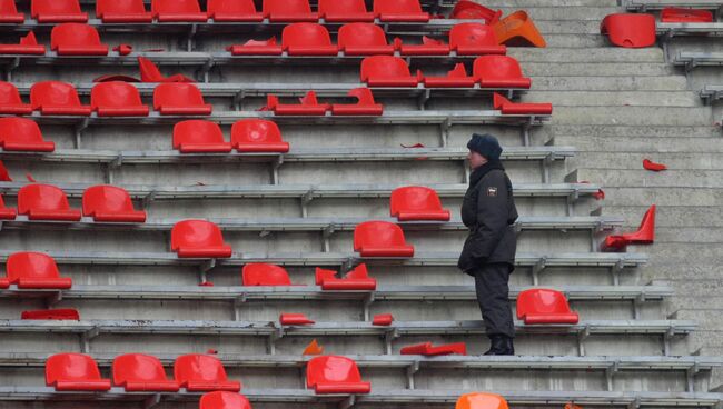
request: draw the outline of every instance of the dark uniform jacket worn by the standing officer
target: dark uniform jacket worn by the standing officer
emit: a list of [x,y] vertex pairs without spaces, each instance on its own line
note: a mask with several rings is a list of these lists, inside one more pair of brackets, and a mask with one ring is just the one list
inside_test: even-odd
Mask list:
[[471,273],[485,263],[507,263],[514,269],[517,238],[512,225],[517,208],[512,182],[502,163],[489,161],[469,176],[462,203],[462,221],[469,228],[457,267]]

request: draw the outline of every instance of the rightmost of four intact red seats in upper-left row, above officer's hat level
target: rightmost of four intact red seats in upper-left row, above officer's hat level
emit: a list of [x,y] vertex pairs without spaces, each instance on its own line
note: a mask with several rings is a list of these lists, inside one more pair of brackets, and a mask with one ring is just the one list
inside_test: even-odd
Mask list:
[[214,107],[192,83],[161,83],[153,90],[153,109],[162,116],[209,116]]

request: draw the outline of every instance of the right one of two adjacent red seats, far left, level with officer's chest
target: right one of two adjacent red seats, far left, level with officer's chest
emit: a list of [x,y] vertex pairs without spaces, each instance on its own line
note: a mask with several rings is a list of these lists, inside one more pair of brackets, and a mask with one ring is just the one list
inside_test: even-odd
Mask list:
[[92,186],[82,193],[82,213],[95,221],[132,222],[146,221],[146,212],[133,209],[130,194],[115,186]]

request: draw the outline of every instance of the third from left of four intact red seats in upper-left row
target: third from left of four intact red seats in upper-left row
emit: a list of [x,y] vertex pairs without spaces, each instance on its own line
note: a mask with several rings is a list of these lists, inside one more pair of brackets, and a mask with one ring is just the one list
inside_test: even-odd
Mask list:
[[98,117],[148,117],[150,112],[150,108],[141,102],[138,89],[123,81],[93,86],[90,108]]

